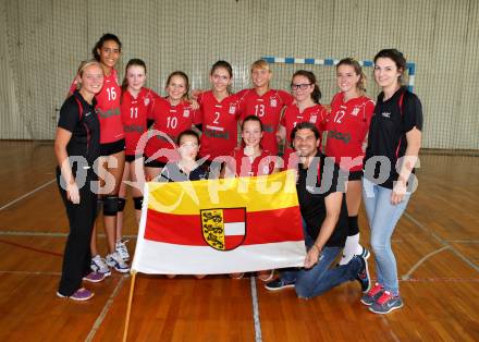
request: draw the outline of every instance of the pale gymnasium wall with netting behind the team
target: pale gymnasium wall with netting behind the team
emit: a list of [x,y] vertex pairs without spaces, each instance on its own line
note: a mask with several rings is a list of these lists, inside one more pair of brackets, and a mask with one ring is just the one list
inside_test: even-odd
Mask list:
[[[81,60],[99,36],[123,42],[148,66],[148,85],[163,93],[174,70],[208,87],[218,59],[232,63],[235,90],[249,85],[262,56],[371,60],[396,47],[416,63],[423,103],[423,146],[479,149],[479,2],[476,0],[0,0],[0,138],[51,139],[58,109]],[[327,103],[334,68],[273,64],[273,86],[287,88],[297,69],[312,70]],[[372,82],[368,93],[379,89]]]

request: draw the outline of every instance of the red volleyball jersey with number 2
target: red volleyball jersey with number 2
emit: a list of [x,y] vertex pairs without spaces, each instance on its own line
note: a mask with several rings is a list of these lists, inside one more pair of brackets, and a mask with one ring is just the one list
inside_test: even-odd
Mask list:
[[240,103],[236,95],[231,95],[218,101],[211,90],[201,93],[198,97],[202,124],[201,148],[199,155],[208,156],[209,160],[219,156],[230,156],[237,146],[237,120]]

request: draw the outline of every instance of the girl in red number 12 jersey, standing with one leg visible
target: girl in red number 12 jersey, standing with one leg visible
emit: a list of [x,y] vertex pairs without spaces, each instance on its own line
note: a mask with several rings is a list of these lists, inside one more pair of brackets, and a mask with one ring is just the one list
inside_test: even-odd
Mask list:
[[331,101],[326,155],[334,158],[336,164],[348,172],[346,205],[349,230],[340,265],[346,265],[355,255],[369,256],[369,252],[359,244],[357,222],[361,203],[363,159],[374,111],[374,102],[365,96],[365,81],[366,75],[356,60],[346,58],[336,65],[336,82],[341,91]]

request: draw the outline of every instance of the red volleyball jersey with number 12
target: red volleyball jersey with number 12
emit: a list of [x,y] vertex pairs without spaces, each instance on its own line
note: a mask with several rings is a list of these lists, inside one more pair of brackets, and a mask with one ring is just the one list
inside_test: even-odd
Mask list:
[[[326,155],[335,159],[344,170],[360,171],[365,151],[366,136],[369,131],[374,102],[360,96],[344,102],[344,93],[339,93],[331,101],[331,113],[328,117],[326,130],[328,139]],[[349,157],[349,158],[347,158]],[[352,161],[357,157],[358,160]]]

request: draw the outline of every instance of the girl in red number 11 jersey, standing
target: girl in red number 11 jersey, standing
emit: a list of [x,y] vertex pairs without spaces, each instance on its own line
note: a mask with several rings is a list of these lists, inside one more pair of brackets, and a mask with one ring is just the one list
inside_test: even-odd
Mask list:
[[122,83],[121,114],[125,131],[125,169],[119,192],[119,211],[116,216],[116,252],[124,261],[130,259],[125,242],[122,241],[123,209],[125,207],[126,182],[132,182],[132,197],[135,206],[136,222],[139,223],[143,204],[143,185],[145,182],[143,149],[137,145],[142,135],[147,132],[147,122],[158,95],[145,88],[146,64],[139,59],[131,59],[125,68]]

